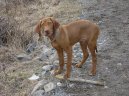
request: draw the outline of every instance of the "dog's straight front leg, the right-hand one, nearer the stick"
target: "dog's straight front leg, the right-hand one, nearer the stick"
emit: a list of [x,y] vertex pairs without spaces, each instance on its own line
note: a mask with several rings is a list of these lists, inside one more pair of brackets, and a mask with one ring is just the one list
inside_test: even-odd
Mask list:
[[66,73],[64,75],[64,78],[69,78],[70,77],[70,72],[71,72],[71,65],[72,65],[72,47],[68,47],[65,49],[67,53],[67,65],[66,65]]

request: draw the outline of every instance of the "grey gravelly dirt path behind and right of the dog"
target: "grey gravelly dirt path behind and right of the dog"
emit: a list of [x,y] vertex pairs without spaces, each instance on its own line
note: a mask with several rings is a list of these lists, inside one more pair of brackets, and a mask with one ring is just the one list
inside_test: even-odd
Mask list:
[[[86,65],[79,76],[104,80],[105,87],[73,83],[74,86],[57,90],[54,96],[128,96],[129,95],[129,1],[128,0],[78,0],[82,6],[80,18],[99,24],[97,75],[87,75]],[[64,93],[64,95],[63,95]],[[60,95],[62,94],[62,95]]]

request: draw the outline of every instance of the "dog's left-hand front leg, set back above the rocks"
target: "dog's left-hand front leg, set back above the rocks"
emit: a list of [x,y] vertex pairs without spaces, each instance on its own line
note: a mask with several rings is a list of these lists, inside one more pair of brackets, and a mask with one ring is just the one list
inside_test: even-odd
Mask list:
[[54,75],[60,74],[63,71],[64,67],[64,54],[62,48],[57,48],[57,54],[59,58],[59,68],[54,72]]

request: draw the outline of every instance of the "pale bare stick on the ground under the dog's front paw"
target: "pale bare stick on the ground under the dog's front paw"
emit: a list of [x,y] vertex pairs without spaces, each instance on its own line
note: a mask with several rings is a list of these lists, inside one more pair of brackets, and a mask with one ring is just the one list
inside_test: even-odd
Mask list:
[[[64,80],[63,76],[61,76],[61,75],[56,75],[55,77],[57,79]],[[84,83],[90,83],[90,84],[104,86],[104,82],[101,82],[101,81],[93,81],[93,80],[78,79],[78,78],[68,78],[67,80],[73,81],[73,82],[84,82]]]

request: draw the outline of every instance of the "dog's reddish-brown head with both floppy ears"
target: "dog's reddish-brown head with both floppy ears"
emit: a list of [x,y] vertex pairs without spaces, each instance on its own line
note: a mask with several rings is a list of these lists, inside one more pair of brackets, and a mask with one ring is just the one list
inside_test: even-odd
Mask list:
[[59,25],[60,24],[55,19],[47,17],[38,22],[35,31],[39,34],[39,38],[41,38],[42,35],[51,37],[55,34]]

